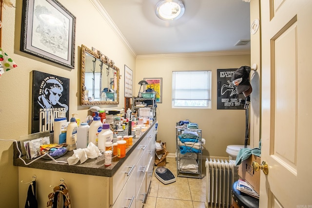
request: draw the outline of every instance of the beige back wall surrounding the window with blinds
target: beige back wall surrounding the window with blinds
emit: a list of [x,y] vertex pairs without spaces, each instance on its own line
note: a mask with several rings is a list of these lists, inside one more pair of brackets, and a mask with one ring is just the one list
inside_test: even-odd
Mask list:
[[[244,144],[245,111],[217,110],[217,69],[239,68],[250,65],[250,55],[215,56],[159,56],[138,57],[134,85],[143,78],[162,77],[162,103],[157,104],[157,140],[167,143],[170,153],[176,151],[176,122],[189,119],[198,123],[206,139],[203,155],[228,156],[226,146]],[[171,107],[172,71],[211,70],[212,109],[173,109]],[[138,89],[135,93],[137,95]]]

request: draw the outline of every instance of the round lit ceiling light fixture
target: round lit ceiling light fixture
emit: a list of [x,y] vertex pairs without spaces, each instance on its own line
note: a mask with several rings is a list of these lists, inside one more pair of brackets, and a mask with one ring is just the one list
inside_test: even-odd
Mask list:
[[181,0],[161,0],[156,5],[155,13],[159,19],[174,20],[180,18],[184,10]]

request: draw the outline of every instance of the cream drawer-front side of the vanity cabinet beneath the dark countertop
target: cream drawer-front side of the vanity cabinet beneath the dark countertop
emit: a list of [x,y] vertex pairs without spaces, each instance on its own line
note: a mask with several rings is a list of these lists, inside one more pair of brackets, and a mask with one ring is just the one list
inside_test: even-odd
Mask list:
[[[135,152],[131,153],[113,175],[111,179],[113,208],[130,208],[130,202],[132,208],[143,207],[155,163],[155,137],[156,130],[153,127],[137,145]],[[127,194],[128,189],[131,189],[129,194]]]

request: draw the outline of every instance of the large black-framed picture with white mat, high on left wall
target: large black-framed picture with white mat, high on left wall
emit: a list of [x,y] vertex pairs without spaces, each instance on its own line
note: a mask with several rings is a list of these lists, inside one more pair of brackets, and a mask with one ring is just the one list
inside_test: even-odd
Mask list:
[[23,0],[20,51],[75,68],[76,17],[57,0]]

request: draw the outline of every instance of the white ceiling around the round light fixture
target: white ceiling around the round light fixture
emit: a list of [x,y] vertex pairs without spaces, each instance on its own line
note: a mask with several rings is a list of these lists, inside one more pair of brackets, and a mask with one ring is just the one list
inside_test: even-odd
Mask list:
[[185,13],[175,21],[158,19],[158,0],[98,0],[136,56],[249,52],[250,5],[243,0],[182,0]]

